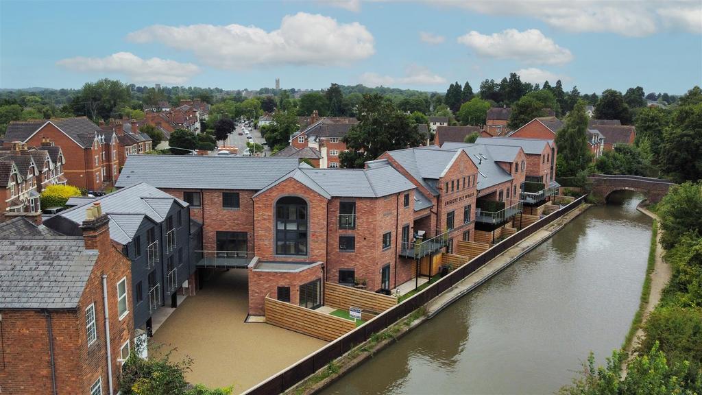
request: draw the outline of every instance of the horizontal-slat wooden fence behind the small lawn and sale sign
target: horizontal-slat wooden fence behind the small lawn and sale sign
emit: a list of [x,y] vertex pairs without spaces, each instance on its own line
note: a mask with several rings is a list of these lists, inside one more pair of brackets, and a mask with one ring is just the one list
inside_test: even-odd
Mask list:
[[380,313],[395,306],[397,298],[345,285],[324,283],[324,304],[346,311],[349,307],[359,307]]

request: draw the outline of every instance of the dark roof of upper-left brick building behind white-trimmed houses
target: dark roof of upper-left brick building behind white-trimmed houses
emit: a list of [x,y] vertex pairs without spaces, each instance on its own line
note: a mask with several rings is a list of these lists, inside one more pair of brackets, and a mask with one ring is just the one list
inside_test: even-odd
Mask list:
[[[58,129],[64,131],[65,134],[67,134],[83,148],[90,147],[92,145],[96,134],[99,136],[111,136],[112,133],[103,131],[98,125],[86,117],[55,118],[49,119],[48,121],[46,119],[12,121],[10,124],[8,124],[5,140],[26,142],[27,139],[29,139],[29,137],[31,137],[40,127],[44,126],[46,122],[51,122],[58,127]],[[109,141],[110,137],[106,137],[106,140]]]

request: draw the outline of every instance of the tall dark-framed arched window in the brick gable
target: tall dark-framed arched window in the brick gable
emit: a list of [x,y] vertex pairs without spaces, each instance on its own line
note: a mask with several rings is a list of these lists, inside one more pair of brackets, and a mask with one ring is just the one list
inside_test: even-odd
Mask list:
[[275,253],[307,255],[307,202],[282,197],[275,205]]

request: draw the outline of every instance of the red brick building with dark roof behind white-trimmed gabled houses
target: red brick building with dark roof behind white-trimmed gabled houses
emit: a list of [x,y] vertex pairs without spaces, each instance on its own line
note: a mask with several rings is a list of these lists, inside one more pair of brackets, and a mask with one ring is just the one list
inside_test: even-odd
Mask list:
[[63,171],[69,184],[87,190],[112,186],[119,176],[119,142],[112,131],[104,131],[86,117],[12,121],[4,147],[13,143],[58,145],[65,157]]

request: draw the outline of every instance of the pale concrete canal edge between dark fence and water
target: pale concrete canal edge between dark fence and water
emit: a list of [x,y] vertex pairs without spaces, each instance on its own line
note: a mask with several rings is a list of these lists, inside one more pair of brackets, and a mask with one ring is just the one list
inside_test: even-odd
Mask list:
[[305,380],[289,388],[284,394],[317,394],[319,391],[322,391],[322,389],[329,387],[330,384],[339,380],[347,373],[350,373],[368,358],[373,357],[378,352],[390,346],[390,344],[397,342],[411,330],[417,328],[426,320],[433,318],[447,306],[461,299],[461,297],[468,294],[470,291],[475,290],[479,285],[503,271],[531,250],[534,250],[534,248],[548,240],[548,238],[591,206],[592,205],[583,204],[576,207],[573,211],[553,221],[552,224],[545,226],[533,235],[518,242],[509,250],[506,250],[478,268],[474,273],[470,274],[470,276],[459,281],[442,294],[439,294],[439,296],[432,299],[425,306],[415,310],[406,318],[399,320],[395,325],[391,325],[389,328],[378,332],[376,336],[357,345],[343,356],[336,358],[336,360],[326,365],[326,367],[317,370],[317,372],[310,377],[307,377]]

